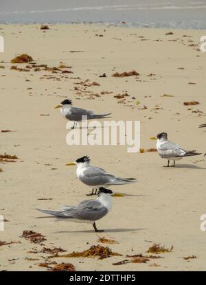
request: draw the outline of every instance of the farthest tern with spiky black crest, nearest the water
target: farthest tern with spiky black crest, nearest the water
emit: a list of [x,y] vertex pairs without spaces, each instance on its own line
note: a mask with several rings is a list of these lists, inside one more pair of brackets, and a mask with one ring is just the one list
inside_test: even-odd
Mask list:
[[95,115],[92,110],[84,110],[71,106],[72,101],[65,99],[61,104],[54,107],[54,109],[60,108],[60,113],[70,121],[74,122],[73,128],[76,128],[76,122],[82,121],[82,116],[87,116],[87,119],[102,119],[111,113]]

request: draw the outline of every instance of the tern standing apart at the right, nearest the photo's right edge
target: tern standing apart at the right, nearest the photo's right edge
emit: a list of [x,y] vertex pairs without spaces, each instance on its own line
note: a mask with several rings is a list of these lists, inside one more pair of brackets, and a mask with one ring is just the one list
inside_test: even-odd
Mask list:
[[168,141],[167,133],[160,133],[157,137],[150,137],[150,139],[157,139],[157,151],[161,158],[168,159],[168,167],[170,166],[170,160],[174,161],[173,166],[175,166],[175,161],[183,157],[201,155],[196,150],[183,150],[178,144]]

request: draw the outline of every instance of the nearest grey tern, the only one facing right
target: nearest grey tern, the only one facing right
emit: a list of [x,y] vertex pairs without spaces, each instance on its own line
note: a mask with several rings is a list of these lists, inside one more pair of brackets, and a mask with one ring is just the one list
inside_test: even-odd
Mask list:
[[100,220],[108,214],[112,208],[113,192],[111,190],[100,187],[98,198],[86,200],[77,206],[64,206],[59,211],[52,211],[47,209],[37,209],[45,214],[49,214],[61,220],[67,219],[75,223],[93,223],[95,232],[103,230],[97,229],[95,221]]

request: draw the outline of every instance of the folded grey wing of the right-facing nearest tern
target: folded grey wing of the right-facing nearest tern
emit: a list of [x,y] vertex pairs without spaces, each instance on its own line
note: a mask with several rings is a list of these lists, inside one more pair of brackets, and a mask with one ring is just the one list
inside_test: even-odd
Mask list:
[[79,220],[100,220],[108,213],[108,209],[99,201],[87,200],[83,201],[76,207],[65,211],[65,217],[72,217]]

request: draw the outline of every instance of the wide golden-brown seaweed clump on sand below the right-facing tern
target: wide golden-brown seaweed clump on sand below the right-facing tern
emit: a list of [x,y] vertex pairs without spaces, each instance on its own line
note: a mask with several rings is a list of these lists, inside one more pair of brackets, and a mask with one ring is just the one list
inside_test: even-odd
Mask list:
[[110,258],[111,256],[122,256],[122,254],[113,252],[109,247],[102,247],[100,244],[92,245],[89,249],[82,252],[67,253],[62,255],[57,255],[60,258],[99,258],[100,260],[104,258]]

